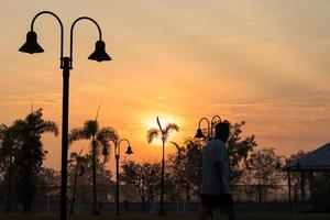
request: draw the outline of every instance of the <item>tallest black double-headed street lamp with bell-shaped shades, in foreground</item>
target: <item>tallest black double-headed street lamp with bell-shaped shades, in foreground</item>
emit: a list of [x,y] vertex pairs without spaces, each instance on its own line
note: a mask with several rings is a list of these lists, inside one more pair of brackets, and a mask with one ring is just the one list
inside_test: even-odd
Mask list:
[[99,24],[88,16],[80,16],[74,21],[70,28],[70,53],[69,56],[64,56],[63,45],[64,45],[64,30],[61,19],[51,11],[38,12],[32,20],[31,31],[26,34],[26,42],[19,48],[20,52],[35,54],[43,53],[44,50],[37,43],[36,33],[33,31],[34,22],[36,18],[42,14],[53,15],[59,23],[61,26],[61,65],[59,68],[63,69],[63,110],[62,110],[62,169],[61,169],[61,220],[67,219],[67,151],[68,151],[68,97],[69,97],[69,72],[73,69],[73,40],[74,40],[74,28],[75,24],[80,20],[91,21],[98,29],[99,40],[96,42],[95,52],[88,57],[88,59],[105,62],[111,61],[111,57],[106,53],[106,44],[102,41],[102,33]]

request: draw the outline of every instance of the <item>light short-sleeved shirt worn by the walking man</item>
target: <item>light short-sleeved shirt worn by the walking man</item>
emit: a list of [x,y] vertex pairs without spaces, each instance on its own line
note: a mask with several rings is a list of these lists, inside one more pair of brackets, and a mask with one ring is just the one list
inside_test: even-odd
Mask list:
[[[219,174],[217,174],[217,162],[221,162],[222,164],[221,179],[219,178]],[[222,182],[223,190],[221,190],[220,180]],[[201,194],[230,194],[228,153],[224,143],[219,139],[211,140],[205,150],[202,162]]]

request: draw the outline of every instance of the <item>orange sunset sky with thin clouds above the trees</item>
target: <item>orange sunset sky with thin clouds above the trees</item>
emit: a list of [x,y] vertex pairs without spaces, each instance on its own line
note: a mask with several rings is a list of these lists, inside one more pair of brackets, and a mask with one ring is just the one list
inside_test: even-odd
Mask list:
[[[161,143],[145,139],[157,116],[180,127],[170,139],[179,144],[195,135],[200,118],[216,114],[246,121],[244,135],[255,134],[258,147],[275,147],[279,155],[330,142],[330,1],[2,0],[1,123],[23,118],[33,102],[61,129],[56,20],[35,21],[45,53],[18,52],[43,10],[62,19],[66,55],[75,19],[87,15],[101,26],[112,62],[88,61],[97,29],[88,21],[75,26],[69,129],[95,119],[100,105],[100,125],[131,141],[134,154],[128,158],[161,157]],[[45,166],[59,168],[61,135],[46,134],[43,142]],[[69,151],[81,147],[89,152],[87,142]]]

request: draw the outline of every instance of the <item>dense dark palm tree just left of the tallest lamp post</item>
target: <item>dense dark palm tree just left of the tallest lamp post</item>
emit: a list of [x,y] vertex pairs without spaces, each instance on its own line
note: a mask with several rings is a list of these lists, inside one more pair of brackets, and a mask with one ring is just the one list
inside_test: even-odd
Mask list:
[[43,119],[43,109],[32,111],[25,119],[16,120],[13,123],[15,139],[19,142],[15,165],[19,176],[22,179],[22,190],[20,196],[23,202],[23,213],[31,209],[31,200],[35,193],[36,174],[41,169],[46,152],[43,150],[41,135],[47,132],[58,134],[58,128],[55,122]]

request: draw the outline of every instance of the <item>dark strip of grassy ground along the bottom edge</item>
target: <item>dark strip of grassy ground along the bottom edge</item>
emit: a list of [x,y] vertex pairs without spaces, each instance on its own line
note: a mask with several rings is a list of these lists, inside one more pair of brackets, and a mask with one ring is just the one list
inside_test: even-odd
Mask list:
[[[19,213],[0,215],[1,220],[58,220],[59,216],[55,213],[29,213],[25,216]],[[156,217],[151,215],[142,216],[138,212],[123,213],[117,218],[113,213],[103,213],[102,216],[90,216],[89,213],[77,213],[68,216],[68,220],[110,220],[110,219],[122,219],[122,220],[193,220],[198,219],[198,213],[186,213],[186,215],[174,215],[168,213],[166,217]],[[224,216],[215,215],[213,219],[227,219]],[[330,213],[278,213],[278,212],[264,212],[264,213],[239,213],[240,220],[330,220]]]

